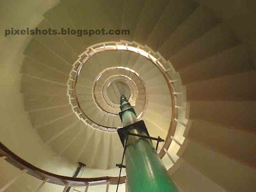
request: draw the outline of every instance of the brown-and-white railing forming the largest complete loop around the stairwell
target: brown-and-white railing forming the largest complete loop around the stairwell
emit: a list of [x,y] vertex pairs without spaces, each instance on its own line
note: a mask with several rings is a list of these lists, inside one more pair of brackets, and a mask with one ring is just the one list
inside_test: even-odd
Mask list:
[[[96,54],[97,52],[103,52],[108,50],[126,50],[126,51],[132,51],[136,52],[138,54],[141,54],[142,56],[145,56],[148,58],[148,60],[155,63],[156,67],[159,68],[161,73],[163,74],[164,78],[166,79],[166,83],[168,84],[168,88],[170,90],[170,97],[172,100],[172,116],[171,116],[171,122],[170,127],[168,129],[168,134],[166,135],[166,140],[164,141],[164,144],[159,148],[157,153],[161,158],[166,154],[164,152],[164,148],[168,150],[170,147],[170,144],[172,143],[173,139],[171,136],[174,136],[174,132],[177,126],[177,122],[175,119],[177,119],[178,116],[178,108],[175,108],[175,103],[177,101],[178,97],[181,97],[180,92],[175,92],[175,88],[173,86],[173,83],[177,82],[178,79],[172,79],[168,72],[172,71],[175,72],[174,68],[172,67],[172,64],[170,61],[164,60],[163,56],[159,52],[154,52],[150,47],[147,47],[147,45],[143,46],[138,44],[137,42],[127,42],[127,41],[120,41],[120,42],[102,42],[99,44],[92,45],[86,49],[82,54],[79,55],[79,58],[76,62],[74,62],[72,70],[70,71],[69,78],[67,81],[67,95],[68,99],[70,101],[70,104],[72,105],[72,109],[74,113],[76,113],[77,117],[81,119],[84,123],[94,125],[97,129],[102,129],[104,131],[116,131],[116,129],[113,129],[111,127],[104,127],[102,125],[94,124],[86,114],[83,113],[83,110],[79,108],[79,102],[76,97],[76,80],[79,76],[79,73],[81,71],[81,68],[83,67],[84,63],[86,63],[87,60],[89,60],[93,54]],[[74,102],[76,100],[76,102]]]

